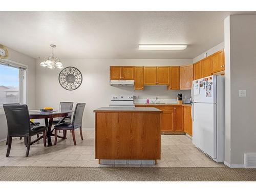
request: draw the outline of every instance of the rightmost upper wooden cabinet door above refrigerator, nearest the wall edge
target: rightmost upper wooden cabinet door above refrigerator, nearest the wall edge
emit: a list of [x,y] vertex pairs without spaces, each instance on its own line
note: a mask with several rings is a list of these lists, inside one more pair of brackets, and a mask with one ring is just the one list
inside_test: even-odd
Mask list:
[[225,70],[224,50],[218,51],[210,56],[211,73],[217,73]]

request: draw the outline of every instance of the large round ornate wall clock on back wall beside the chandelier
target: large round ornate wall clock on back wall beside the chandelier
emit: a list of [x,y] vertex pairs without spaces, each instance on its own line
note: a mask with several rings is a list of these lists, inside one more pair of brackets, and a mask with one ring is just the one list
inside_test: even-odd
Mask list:
[[59,84],[66,90],[75,90],[82,83],[81,72],[74,67],[66,67],[59,73]]

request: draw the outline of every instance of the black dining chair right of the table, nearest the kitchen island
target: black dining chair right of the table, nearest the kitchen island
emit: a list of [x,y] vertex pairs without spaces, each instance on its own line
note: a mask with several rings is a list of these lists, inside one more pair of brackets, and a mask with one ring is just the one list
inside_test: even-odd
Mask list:
[[73,114],[73,120],[71,123],[68,122],[63,122],[56,124],[54,126],[54,135],[55,135],[55,140],[54,140],[54,145],[57,143],[57,138],[58,138],[58,130],[63,130],[65,135],[67,134],[67,130],[71,130],[72,132],[72,137],[74,144],[76,145],[76,138],[75,138],[75,129],[79,128],[80,129],[80,136],[81,139],[83,140],[82,137],[82,116],[83,116],[83,111],[86,106],[86,103],[77,103],[76,108]]

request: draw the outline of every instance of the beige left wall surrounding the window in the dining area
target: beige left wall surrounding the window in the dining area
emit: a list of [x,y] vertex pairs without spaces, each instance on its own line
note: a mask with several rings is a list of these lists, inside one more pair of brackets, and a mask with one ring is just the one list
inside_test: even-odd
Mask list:
[[[28,66],[27,69],[27,104],[29,109],[35,108],[35,59],[8,48],[9,60],[16,61]],[[6,139],[7,124],[3,109],[0,109],[0,141]]]

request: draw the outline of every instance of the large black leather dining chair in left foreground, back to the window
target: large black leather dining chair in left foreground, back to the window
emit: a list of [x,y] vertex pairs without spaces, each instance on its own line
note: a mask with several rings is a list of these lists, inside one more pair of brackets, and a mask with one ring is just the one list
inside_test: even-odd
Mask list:
[[4,111],[8,129],[8,147],[6,157],[9,157],[12,145],[12,137],[24,137],[27,147],[26,157],[29,155],[31,136],[43,134],[44,146],[46,146],[46,126],[31,125],[29,110],[26,104],[4,104]]

